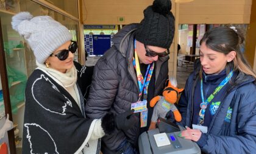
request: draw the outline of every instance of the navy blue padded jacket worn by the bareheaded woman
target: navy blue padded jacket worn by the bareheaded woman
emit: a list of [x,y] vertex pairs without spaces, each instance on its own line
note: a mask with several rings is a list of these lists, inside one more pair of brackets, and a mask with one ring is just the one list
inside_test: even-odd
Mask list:
[[[185,91],[179,100],[182,114],[180,125],[191,127],[195,87],[200,79],[194,71],[188,77]],[[212,117],[207,133],[202,133],[197,144],[205,153],[256,152],[256,85],[254,77],[235,72],[226,87],[218,110]],[[229,112],[228,112],[229,111]],[[227,113],[231,113],[227,121]]]

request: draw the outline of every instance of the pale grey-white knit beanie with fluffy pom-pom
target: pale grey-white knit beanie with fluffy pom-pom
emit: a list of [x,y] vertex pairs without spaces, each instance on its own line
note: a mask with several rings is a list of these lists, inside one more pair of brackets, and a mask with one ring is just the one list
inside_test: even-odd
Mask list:
[[29,12],[20,12],[12,17],[12,28],[27,40],[41,64],[58,47],[72,39],[68,29],[51,16],[33,18]]

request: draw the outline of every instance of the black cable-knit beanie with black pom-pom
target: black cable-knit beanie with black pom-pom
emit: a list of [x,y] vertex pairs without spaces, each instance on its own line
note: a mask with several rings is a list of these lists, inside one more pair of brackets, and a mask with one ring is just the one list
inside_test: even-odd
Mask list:
[[170,12],[171,0],[155,0],[144,10],[144,19],[135,32],[136,40],[149,46],[169,49],[171,46],[175,23]]

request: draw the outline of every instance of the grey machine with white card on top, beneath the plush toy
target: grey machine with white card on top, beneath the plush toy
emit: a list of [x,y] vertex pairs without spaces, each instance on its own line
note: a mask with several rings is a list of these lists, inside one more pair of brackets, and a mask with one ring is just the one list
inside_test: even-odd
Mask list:
[[[178,137],[181,130],[185,130],[185,128],[167,122],[165,119],[160,119],[160,122],[158,122],[158,128],[146,131],[140,135],[138,140],[140,154],[201,153],[199,146],[195,142]],[[159,143],[166,143],[165,140],[169,140],[167,141],[168,145]],[[162,146],[159,147],[159,145]]]

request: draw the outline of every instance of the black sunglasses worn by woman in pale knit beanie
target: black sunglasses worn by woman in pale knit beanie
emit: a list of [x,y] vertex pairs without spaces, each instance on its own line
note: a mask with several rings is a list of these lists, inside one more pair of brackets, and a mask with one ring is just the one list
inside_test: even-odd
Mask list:
[[66,58],[68,58],[69,51],[72,54],[74,54],[76,52],[76,49],[77,49],[77,42],[71,41],[71,44],[68,46],[68,49],[63,49],[63,50],[59,51],[58,54],[51,54],[49,56],[50,57],[55,56],[55,57],[59,58],[59,60],[66,60]]

